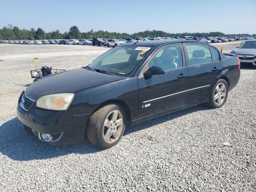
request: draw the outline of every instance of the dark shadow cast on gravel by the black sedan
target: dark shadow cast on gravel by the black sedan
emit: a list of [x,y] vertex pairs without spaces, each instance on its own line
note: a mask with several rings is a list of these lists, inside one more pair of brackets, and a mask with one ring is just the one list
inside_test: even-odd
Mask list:
[[[199,110],[209,110],[210,108],[199,105],[179,112],[168,114],[159,118],[148,120],[140,124],[128,126],[124,136],[137,132],[146,128],[150,128],[156,124],[160,124],[186,114],[190,114]],[[54,158],[64,156],[66,154],[92,154],[102,151],[86,141],[67,146],[52,146],[41,142],[36,138],[31,138],[24,132],[20,121],[17,117],[13,118],[0,126],[0,152],[8,158],[17,161],[29,161]]]

